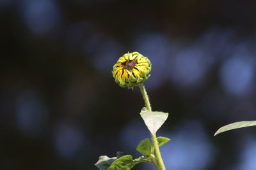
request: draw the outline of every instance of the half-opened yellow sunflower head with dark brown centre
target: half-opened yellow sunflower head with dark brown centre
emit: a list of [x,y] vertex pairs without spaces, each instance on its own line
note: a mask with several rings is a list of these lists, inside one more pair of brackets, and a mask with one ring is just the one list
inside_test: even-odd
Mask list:
[[150,76],[151,62],[138,52],[125,53],[113,66],[113,77],[121,87],[132,88]]

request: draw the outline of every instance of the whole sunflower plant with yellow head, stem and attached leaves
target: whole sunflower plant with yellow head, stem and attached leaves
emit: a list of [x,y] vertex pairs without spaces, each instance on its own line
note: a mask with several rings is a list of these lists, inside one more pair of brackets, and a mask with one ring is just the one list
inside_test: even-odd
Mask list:
[[148,162],[158,170],[165,170],[159,146],[164,145],[170,139],[157,137],[156,132],[168,118],[168,113],[151,110],[148,95],[143,85],[143,82],[150,76],[151,66],[150,60],[138,52],[125,53],[113,66],[113,77],[120,87],[127,87],[128,89],[140,87],[145,101],[145,107],[141,110],[140,115],[150,131],[151,142],[149,138],[140,142],[136,150],[142,156],[138,159],[133,159],[131,155],[124,155],[122,152],[117,152],[116,157],[112,158],[106,155],[100,156],[95,164],[100,170],[129,170],[140,162]]

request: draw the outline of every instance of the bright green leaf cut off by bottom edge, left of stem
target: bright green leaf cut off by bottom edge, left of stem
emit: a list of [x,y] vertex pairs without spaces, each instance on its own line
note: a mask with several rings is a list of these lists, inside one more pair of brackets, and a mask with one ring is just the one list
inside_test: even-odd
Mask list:
[[134,162],[132,160],[131,155],[125,155],[116,159],[115,162],[113,162],[113,164],[111,164],[111,166],[108,168],[108,170],[129,170],[132,169],[132,167],[134,167],[138,163],[140,162]]

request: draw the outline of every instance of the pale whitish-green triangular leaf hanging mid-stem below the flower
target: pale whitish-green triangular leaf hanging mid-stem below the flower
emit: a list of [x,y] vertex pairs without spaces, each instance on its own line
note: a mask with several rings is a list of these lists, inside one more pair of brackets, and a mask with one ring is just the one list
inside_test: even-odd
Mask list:
[[163,113],[161,111],[148,111],[143,108],[140,112],[148,130],[151,134],[156,134],[161,125],[164,124],[165,120],[168,118],[168,113]]

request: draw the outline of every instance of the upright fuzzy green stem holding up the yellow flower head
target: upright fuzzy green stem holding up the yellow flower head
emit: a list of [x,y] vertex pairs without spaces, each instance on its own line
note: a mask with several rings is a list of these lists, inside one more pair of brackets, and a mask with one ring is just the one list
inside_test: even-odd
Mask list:
[[[139,85],[139,87],[140,87],[143,99],[145,101],[145,106],[146,106],[147,110],[152,111],[151,106],[150,106],[150,102],[149,102],[149,99],[148,99],[148,94],[146,92],[146,89],[145,89],[144,85],[141,83]],[[159,146],[158,146],[158,143],[157,143],[156,134],[151,134],[151,139],[152,139],[152,143],[153,143],[153,147],[154,147],[154,155],[155,155],[154,162],[156,163],[157,169],[158,170],[165,170],[164,162],[163,162],[163,159],[161,157],[161,153],[160,153]]]

